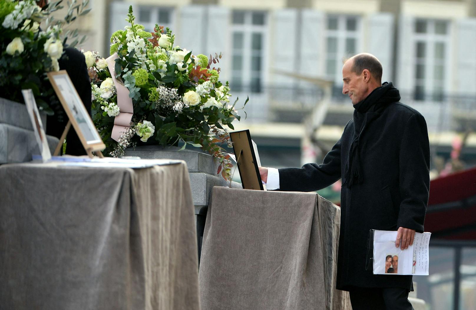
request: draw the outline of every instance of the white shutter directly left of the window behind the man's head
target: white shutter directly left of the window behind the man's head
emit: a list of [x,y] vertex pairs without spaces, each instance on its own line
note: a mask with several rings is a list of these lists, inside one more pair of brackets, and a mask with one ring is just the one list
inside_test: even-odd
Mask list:
[[302,10],[301,14],[299,73],[306,76],[323,77],[324,13],[306,9]]

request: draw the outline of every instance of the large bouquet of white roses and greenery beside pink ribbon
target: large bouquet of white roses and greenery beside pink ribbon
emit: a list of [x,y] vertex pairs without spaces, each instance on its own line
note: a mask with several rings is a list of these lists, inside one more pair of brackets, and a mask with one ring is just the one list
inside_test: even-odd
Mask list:
[[[127,147],[144,143],[200,147],[221,163],[217,174],[230,178],[233,164],[222,145],[230,145],[228,128],[240,120],[235,103],[229,103],[228,82],[219,81],[221,54],[192,55],[174,46],[169,28],[155,25],[153,33],[135,24],[129,7],[129,26],[111,36],[110,54],[117,53],[115,74],[129,90],[134,114],[129,130],[118,141],[111,138],[114,117],[120,113],[117,91],[106,59],[83,51],[93,94],[93,121],[106,144],[106,153],[119,157]],[[247,101],[241,109],[246,105]]]

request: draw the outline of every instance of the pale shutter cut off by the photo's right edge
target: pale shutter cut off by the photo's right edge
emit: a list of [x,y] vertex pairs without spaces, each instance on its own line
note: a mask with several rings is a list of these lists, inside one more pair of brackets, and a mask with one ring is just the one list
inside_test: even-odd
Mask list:
[[476,94],[476,19],[456,22],[456,74],[457,94]]

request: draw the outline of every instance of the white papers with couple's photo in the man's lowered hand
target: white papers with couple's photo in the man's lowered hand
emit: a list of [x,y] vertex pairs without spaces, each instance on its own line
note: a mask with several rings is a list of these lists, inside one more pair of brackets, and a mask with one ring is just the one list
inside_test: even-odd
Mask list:
[[396,231],[371,230],[374,274],[428,275],[431,233],[415,233],[412,245],[401,250],[395,246]]

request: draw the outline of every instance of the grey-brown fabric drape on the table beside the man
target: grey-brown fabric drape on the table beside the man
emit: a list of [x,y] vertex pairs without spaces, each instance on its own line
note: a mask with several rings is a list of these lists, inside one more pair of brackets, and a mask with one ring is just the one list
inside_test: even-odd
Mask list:
[[213,188],[201,309],[351,309],[335,289],[339,218],[316,193]]

